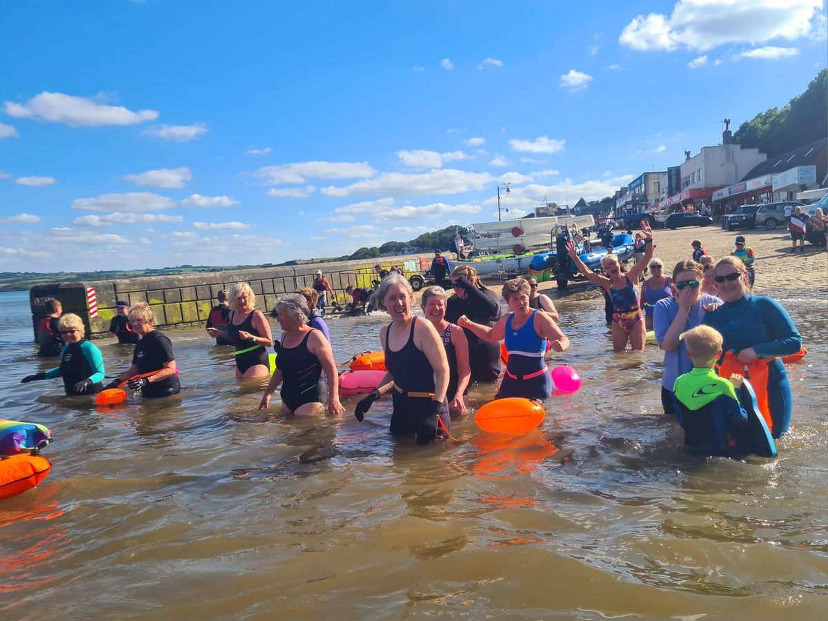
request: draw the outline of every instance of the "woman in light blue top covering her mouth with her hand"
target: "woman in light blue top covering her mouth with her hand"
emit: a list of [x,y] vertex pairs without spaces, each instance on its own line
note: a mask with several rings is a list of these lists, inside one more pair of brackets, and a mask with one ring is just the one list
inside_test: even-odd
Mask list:
[[705,306],[722,302],[718,297],[701,292],[703,274],[703,268],[695,261],[677,262],[670,282],[672,297],[657,301],[652,309],[656,341],[664,350],[662,407],[665,414],[676,413],[672,398],[676,378],[690,373],[693,368],[679,335],[701,324],[705,318]]

